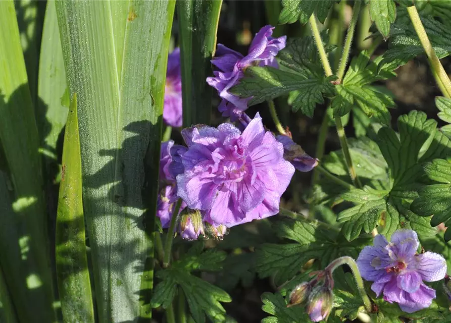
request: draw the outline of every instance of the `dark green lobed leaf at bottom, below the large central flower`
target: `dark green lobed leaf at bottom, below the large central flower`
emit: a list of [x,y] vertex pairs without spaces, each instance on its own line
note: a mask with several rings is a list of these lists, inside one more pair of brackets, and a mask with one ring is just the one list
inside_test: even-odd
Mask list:
[[203,243],[195,243],[170,268],[157,272],[156,276],[161,282],[155,287],[151,299],[153,308],[167,308],[178,290],[185,294],[196,323],[205,322],[205,315],[214,322],[225,322],[226,314],[220,302],[231,302],[230,296],[222,289],[192,275],[192,272],[221,270],[226,253],[213,249],[203,252],[203,248]]

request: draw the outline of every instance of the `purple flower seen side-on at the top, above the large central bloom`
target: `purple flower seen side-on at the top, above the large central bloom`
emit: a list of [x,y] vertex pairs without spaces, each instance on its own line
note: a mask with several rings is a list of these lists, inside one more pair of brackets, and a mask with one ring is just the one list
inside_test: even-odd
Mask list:
[[219,111],[224,117],[236,121],[242,112],[247,109],[250,98],[240,98],[229,92],[230,88],[238,84],[244,76],[244,69],[251,65],[272,66],[277,68],[275,56],[286,44],[286,36],[271,37],[274,27],[267,25],[260,29],[250,44],[246,56],[222,44],[218,44],[215,58],[212,60],[219,71],[213,72],[214,77],[208,77],[207,83],[213,86],[223,99]]

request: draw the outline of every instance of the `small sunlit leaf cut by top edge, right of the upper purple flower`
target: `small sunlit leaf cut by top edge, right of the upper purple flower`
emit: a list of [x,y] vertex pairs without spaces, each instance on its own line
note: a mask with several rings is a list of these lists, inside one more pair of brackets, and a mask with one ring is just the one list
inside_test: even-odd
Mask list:
[[282,0],[283,9],[279,16],[279,23],[292,24],[299,20],[304,25],[313,13],[316,13],[318,20],[323,23],[335,2],[338,0]]

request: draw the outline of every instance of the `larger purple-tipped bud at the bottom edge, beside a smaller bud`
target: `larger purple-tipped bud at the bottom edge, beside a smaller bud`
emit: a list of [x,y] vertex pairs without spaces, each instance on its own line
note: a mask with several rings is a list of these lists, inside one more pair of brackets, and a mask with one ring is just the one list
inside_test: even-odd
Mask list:
[[327,320],[333,305],[333,292],[327,284],[313,289],[307,304],[307,313],[314,322]]

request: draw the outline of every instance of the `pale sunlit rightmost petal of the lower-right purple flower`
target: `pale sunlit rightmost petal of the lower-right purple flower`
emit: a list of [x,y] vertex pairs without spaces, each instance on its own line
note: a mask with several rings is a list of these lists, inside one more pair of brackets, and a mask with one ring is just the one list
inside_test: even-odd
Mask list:
[[445,277],[446,260],[438,253],[427,251],[415,257],[416,271],[426,282],[436,282]]

